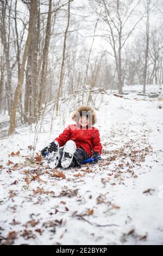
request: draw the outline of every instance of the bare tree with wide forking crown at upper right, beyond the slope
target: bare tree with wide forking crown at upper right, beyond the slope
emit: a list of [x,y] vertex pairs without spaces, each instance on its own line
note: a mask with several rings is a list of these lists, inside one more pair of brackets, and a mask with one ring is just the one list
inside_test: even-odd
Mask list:
[[[109,41],[109,44],[112,48],[113,54],[109,53],[112,57],[115,58],[116,63],[116,72],[118,76],[118,92],[122,94],[123,78],[122,78],[122,50],[126,45],[127,40],[130,38],[130,35],[135,30],[136,26],[142,20],[143,16],[136,19],[136,22],[130,26],[129,31],[127,32],[127,25],[130,22],[134,11],[139,5],[140,0],[130,0],[124,2],[122,0],[117,1],[106,1],[106,0],[96,0],[96,2],[101,11],[101,19],[104,24],[107,25],[108,31],[102,36]],[[99,12],[99,8],[95,7],[95,11]]]

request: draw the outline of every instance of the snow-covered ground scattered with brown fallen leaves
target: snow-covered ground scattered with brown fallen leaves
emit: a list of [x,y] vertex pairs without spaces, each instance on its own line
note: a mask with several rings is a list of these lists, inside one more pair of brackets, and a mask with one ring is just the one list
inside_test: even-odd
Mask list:
[[0,140],[1,244],[163,245],[163,97],[125,97],[103,94],[96,165],[43,168],[48,122]]

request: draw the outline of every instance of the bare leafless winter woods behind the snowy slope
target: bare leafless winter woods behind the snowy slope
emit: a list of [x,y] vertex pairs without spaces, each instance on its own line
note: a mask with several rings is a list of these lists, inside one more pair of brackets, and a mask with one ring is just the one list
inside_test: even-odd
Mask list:
[[147,84],[161,85],[162,4],[156,3],[1,0],[0,111],[10,116],[9,134],[17,122],[41,120],[50,102],[60,115],[62,98],[77,92],[76,102],[93,105],[93,88],[123,94],[124,85],[139,84],[146,93]]

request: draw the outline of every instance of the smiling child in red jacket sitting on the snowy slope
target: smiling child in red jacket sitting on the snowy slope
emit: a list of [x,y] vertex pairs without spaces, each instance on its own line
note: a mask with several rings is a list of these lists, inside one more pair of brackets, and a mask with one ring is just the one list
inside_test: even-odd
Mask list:
[[81,163],[90,157],[98,162],[102,153],[99,131],[93,127],[96,123],[95,111],[90,106],[79,106],[74,111],[72,120],[76,124],[70,124],[50,146],[41,151],[42,156],[46,156],[46,153],[53,154],[53,168],[81,167]]

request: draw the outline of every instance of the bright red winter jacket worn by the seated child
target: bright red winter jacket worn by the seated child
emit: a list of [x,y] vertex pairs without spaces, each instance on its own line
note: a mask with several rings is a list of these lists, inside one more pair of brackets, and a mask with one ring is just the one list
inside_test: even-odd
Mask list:
[[97,151],[99,154],[102,153],[103,147],[99,138],[99,130],[95,127],[82,129],[76,124],[70,124],[55,140],[58,141],[60,147],[64,146],[68,140],[73,140],[77,148],[82,146],[90,157],[93,151]]

